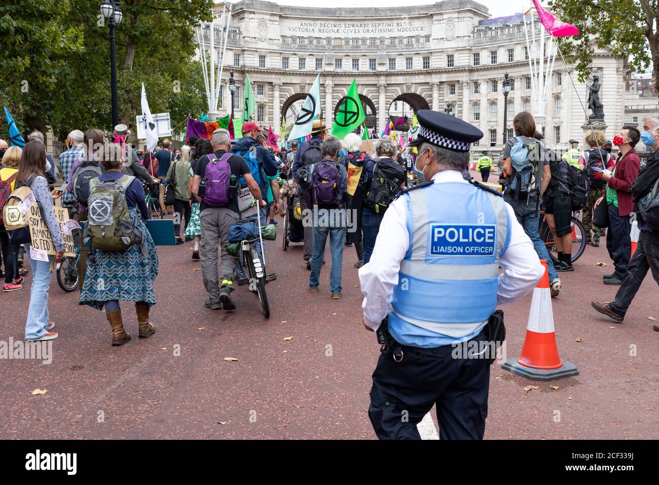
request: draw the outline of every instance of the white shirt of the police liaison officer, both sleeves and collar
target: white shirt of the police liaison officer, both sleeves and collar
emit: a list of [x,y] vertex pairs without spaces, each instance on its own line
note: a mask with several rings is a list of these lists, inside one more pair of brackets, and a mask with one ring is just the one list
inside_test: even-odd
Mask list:
[[[432,177],[432,181],[469,183],[457,170],[438,172]],[[544,275],[538,254],[529,236],[517,222],[515,211],[508,203],[505,208],[508,211],[511,231],[510,243],[499,261],[504,272],[499,276],[498,305],[516,302],[529,293]],[[398,284],[401,261],[405,258],[408,248],[405,197],[399,197],[391,203],[380,222],[380,232],[370,261],[359,270],[359,281],[364,294],[364,323],[374,330],[380,327],[380,322],[389,311],[393,287]]]

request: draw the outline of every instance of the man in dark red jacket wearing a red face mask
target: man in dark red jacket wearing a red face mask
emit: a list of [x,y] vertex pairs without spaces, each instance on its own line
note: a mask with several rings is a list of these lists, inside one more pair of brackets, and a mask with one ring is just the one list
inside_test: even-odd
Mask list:
[[639,143],[641,133],[633,127],[623,128],[614,137],[614,145],[620,148],[620,158],[613,172],[602,172],[602,178],[607,181],[606,195],[598,199],[595,207],[606,202],[609,212],[609,231],[606,236],[606,249],[614,261],[616,271],[604,276],[604,284],[620,285],[627,277],[627,265],[631,257],[631,221],[629,214],[634,207],[631,185],[641,170],[634,146]]

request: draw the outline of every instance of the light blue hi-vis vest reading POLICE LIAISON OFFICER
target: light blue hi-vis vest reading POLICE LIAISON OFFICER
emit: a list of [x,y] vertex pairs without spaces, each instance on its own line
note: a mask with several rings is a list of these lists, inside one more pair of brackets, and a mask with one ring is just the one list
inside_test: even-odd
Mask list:
[[471,339],[496,309],[499,259],[510,241],[503,198],[462,182],[434,183],[403,197],[410,243],[389,332],[420,347]]

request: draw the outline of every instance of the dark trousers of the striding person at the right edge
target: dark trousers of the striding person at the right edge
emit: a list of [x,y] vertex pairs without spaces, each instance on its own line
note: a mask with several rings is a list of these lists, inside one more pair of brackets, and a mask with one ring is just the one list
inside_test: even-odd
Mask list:
[[659,230],[641,231],[639,243],[634,257],[629,261],[627,271],[627,278],[618,288],[616,300],[611,304],[611,307],[621,315],[627,312],[648,271],[659,284]]

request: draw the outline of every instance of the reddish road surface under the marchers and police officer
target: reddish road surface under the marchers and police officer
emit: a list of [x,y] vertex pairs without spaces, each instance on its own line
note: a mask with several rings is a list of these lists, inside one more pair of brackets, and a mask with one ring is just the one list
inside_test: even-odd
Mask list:
[[[601,282],[612,269],[603,242],[561,275],[553,300],[561,358],[580,374],[541,383],[493,366],[486,438],[656,437],[659,333],[648,317],[659,319],[657,286],[646,278],[625,323],[592,310],[590,300],[616,291]],[[132,305],[123,303],[133,339],[118,348],[109,345],[105,315],[78,306],[53,278],[49,309],[60,334],[53,360],[0,360],[0,438],[374,438],[366,410],[379,346],[360,324],[354,248],[345,248],[344,296],[332,300],[329,251],[320,292],[309,294],[301,245],[283,251],[281,239],[268,243],[277,273],[267,286],[270,319],[246,287],[234,292],[235,313],[206,309],[191,252],[190,244],[159,248],[156,334],[137,339]],[[0,340],[22,339],[28,286],[0,294]],[[519,355],[529,306],[527,296],[503,308],[509,356]],[[420,429],[436,438],[436,416]]]

